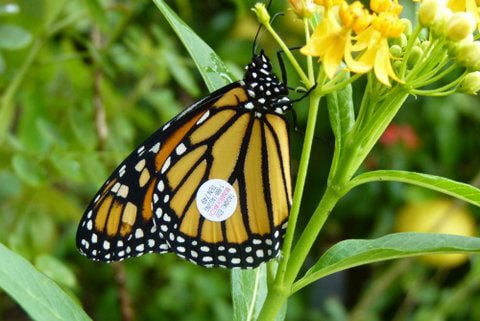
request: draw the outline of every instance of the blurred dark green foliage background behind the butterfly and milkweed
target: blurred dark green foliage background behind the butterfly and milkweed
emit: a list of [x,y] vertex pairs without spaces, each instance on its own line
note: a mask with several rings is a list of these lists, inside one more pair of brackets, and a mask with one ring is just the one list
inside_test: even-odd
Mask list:
[[[241,78],[258,28],[250,11],[254,2],[167,2]],[[404,5],[412,17],[414,8]],[[302,45],[302,26],[288,3],[275,0],[270,12],[284,13],[274,27],[287,44]],[[278,47],[266,33],[259,46],[278,67]],[[291,70],[288,75],[289,85],[301,85]],[[362,86],[355,84],[357,101]],[[172,254],[95,263],[74,244],[83,210],[116,165],[207,93],[150,0],[1,0],[0,242],[51,277],[94,320],[230,320],[228,271],[203,269]],[[298,130],[291,122],[293,176],[305,107],[295,106]],[[478,186],[478,107],[478,97],[465,95],[408,100],[363,170],[414,170]],[[316,137],[301,224],[322,195],[333,152],[325,108]],[[476,208],[403,184],[358,187],[335,209],[310,264],[340,240],[413,230],[435,213],[450,232],[477,235]],[[406,226],[399,223],[402,215]],[[479,300],[480,262],[474,256],[410,259],[321,280],[289,301],[287,320],[480,320]],[[0,320],[29,317],[0,292]]]

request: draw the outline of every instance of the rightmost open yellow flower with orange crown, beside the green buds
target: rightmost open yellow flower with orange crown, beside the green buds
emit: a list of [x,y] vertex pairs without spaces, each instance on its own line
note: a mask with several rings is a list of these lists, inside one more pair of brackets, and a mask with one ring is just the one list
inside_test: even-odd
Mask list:
[[399,37],[405,25],[392,12],[381,12],[373,18],[372,25],[355,38],[352,51],[362,51],[358,59],[351,53],[345,56],[348,68],[356,73],[366,73],[373,68],[375,76],[384,85],[390,86],[390,78],[397,82],[401,80],[395,74],[390,61],[388,38]]

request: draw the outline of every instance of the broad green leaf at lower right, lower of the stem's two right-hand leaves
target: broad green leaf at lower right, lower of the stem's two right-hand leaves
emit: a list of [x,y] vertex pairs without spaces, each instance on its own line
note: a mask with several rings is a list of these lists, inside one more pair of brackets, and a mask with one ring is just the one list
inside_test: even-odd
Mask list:
[[480,238],[407,232],[388,234],[372,240],[345,240],[328,249],[305,276],[294,284],[293,291],[355,266],[439,252],[480,252]]

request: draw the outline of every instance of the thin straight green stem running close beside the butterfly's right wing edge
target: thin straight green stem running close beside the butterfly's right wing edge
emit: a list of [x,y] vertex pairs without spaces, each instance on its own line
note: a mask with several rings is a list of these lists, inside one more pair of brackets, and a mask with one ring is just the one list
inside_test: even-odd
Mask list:
[[295,191],[293,193],[292,208],[290,209],[290,215],[288,218],[288,228],[285,234],[285,240],[282,249],[283,257],[280,261],[280,266],[278,269],[278,280],[280,280],[280,282],[283,282],[283,277],[285,275],[287,262],[289,261],[290,251],[292,248],[293,236],[295,234],[298,214],[300,212],[300,204],[302,201],[303,189],[305,187],[305,180],[307,177],[308,163],[310,160],[313,138],[315,135],[315,124],[317,121],[318,105],[320,104],[320,99],[321,96],[316,96],[314,94],[312,94],[312,97],[310,99],[305,139],[303,141],[302,155],[300,158]]

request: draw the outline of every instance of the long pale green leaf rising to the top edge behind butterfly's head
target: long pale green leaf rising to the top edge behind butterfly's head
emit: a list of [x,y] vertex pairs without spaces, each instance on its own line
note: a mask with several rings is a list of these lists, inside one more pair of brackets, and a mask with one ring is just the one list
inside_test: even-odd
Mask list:
[[208,89],[213,91],[233,82],[233,77],[225,64],[190,27],[162,0],[153,0],[168,23],[187,48],[198,67]]

